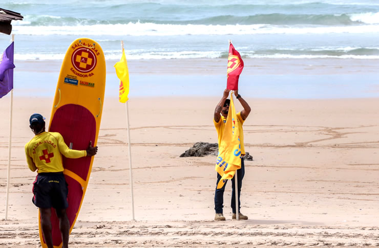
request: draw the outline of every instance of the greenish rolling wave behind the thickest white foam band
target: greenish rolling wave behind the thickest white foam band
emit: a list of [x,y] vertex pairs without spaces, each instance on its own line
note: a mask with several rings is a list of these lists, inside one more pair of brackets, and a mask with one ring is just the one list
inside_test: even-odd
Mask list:
[[78,16],[52,16],[52,15],[26,15],[24,20],[12,22],[15,26],[90,26],[90,25],[125,25],[140,22],[143,24],[166,24],[166,25],[362,25],[378,24],[379,12],[353,13],[353,14],[283,14],[268,13],[255,15],[212,15],[199,16],[188,19],[164,19],[148,17],[119,17],[106,20],[91,19]]

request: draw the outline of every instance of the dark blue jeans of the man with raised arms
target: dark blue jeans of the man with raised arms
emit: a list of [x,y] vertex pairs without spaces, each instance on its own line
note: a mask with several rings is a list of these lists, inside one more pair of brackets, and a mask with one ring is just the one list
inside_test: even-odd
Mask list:
[[[241,169],[237,170],[237,183],[238,183],[238,212],[240,212],[241,209],[241,187],[242,187],[242,179],[245,175],[245,163],[243,161],[243,158],[241,158]],[[231,203],[230,207],[231,210],[233,210],[233,213],[236,213],[236,190],[235,190],[235,183],[234,178],[231,178]],[[221,179],[221,176],[219,173],[217,173],[217,183],[216,183],[216,192],[215,192],[215,211],[216,214],[222,214],[222,208],[224,207],[224,191],[227,181],[225,182],[224,186],[221,189],[217,189],[217,184],[219,183]]]

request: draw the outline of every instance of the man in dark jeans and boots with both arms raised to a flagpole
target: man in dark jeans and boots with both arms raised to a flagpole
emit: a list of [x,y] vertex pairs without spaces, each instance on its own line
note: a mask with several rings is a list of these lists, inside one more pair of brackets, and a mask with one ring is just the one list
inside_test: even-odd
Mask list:
[[[229,105],[230,100],[227,99],[229,96],[229,89],[225,89],[224,94],[220,100],[220,102],[217,104],[214,114],[214,124],[217,130],[218,135],[218,144],[220,147],[222,136],[225,129],[225,123],[226,118],[228,116],[229,111]],[[241,187],[242,187],[242,179],[245,174],[245,164],[243,161],[243,155],[245,155],[245,147],[243,145],[243,129],[242,124],[246,120],[247,116],[250,114],[250,106],[247,104],[247,102],[241,97],[240,94],[238,94],[238,90],[234,91],[234,94],[236,98],[240,101],[243,110],[237,114],[237,121],[238,121],[238,129],[239,129],[239,138],[240,138],[240,144],[241,144],[241,169],[237,170],[237,183],[238,183],[238,210],[240,210],[241,202],[240,202],[240,193],[241,193]],[[236,219],[236,190],[235,190],[235,183],[234,178],[231,179],[231,210],[233,211],[233,215],[231,216],[232,219]],[[225,217],[223,215],[223,204],[224,204],[224,190],[226,186],[226,182],[224,186],[221,189],[217,189],[217,185],[221,179],[221,176],[219,173],[217,173],[217,183],[216,183],[216,191],[215,191],[215,220],[225,220]],[[247,219],[247,216],[241,214],[240,211],[238,211],[238,217],[239,219]]]

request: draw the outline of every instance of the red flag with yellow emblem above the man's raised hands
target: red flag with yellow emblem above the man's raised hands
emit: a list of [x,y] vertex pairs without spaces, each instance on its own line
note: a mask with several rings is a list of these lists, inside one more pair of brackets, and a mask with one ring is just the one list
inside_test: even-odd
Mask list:
[[240,53],[234,48],[233,44],[229,40],[229,55],[227,66],[227,83],[226,88],[231,91],[237,91],[238,79],[243,69],[243,60]]

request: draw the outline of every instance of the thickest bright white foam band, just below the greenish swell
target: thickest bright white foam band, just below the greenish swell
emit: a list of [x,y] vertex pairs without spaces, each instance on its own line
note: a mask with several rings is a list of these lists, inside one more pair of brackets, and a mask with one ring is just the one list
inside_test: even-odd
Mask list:
[[278,25],[164,25],[130,22],[116,25],[85,26],[13,26],[18,35],[101,35],[101,36],[177,36],[177,35],[247,35],[247,34],[331,34],[378,33],[378,25],[360,26],[278,26]]

